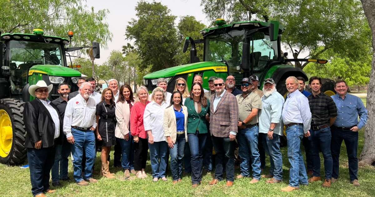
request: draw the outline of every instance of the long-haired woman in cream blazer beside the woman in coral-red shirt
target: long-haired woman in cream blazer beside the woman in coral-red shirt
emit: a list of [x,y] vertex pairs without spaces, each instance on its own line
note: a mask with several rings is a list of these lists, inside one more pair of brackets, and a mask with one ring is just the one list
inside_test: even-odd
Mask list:
[[121,147],[121,167],[124,169],[125,178],[130,177],[134,170],[134,142],[130,134],[130,110],[134,105],[134,97],[130,85],[122,85],[116,103],[117,125],[115,129],[116,143]]

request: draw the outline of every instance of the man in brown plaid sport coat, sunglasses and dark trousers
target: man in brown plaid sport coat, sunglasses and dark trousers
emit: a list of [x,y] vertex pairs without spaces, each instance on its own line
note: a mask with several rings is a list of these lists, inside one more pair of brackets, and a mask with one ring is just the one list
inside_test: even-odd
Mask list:
[[224,80],[214,80],[216,94],[210,99],[210,133],[216,152],[216,169],[214,185],[223,179],[223,163],[225,163],[226,185],[232,186],[234,181],[234,140],[237,134],[238,105],[236,97],[225,90]]

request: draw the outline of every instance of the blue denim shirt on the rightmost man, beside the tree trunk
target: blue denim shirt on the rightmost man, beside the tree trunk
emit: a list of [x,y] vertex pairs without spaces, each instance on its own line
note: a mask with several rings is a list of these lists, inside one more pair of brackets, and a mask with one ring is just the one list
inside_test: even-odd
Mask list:
[[367,109],[359,97],[351,94],[345,95],[344,100],[338,94],[331,97],[337,107],[337,118],[333,123],[334,126],[351,127],[357,125],[359,129],[365,126],[368,119]]

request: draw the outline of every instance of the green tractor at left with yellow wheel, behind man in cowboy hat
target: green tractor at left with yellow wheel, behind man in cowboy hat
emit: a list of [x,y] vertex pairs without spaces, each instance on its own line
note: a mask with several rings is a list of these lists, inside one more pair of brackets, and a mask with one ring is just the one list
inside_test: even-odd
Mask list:
[[[43,35],[41,29],[33,34],[0,33],[0,162],[7,165],[22,164],[26,159],[24,148],[26,130],[23,122],[23,104],[33,100],[28,87],[44,80],[53,84],[49,100],[60,95],[58,84],[66,82],[71,91],[77,91],[81,73],[67,66],[69,51],[86,47],[66,47],[70,39]],[[93,42],[93,54],[100,57],[99,43]]]

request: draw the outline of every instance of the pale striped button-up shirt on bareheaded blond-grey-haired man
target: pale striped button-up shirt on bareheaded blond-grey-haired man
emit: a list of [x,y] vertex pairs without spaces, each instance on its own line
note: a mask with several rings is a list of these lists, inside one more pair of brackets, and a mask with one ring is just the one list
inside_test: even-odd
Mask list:
[[311,125],[311,112],[308,98],[298,90],[289,93],[288,99],[284,103],[281,116],[284,124],[302,123],[303,132],[307,133]]

